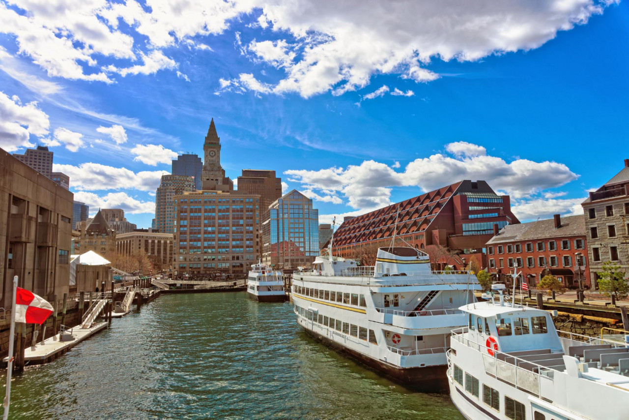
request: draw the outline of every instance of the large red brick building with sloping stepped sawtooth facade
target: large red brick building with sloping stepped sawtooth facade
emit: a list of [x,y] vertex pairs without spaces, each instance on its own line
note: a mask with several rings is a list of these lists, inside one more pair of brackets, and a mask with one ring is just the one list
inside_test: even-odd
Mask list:
[[494,224],[519,223],[508,195],[497,195],[486,181],[465,180],[344,220],[334,234],[333,253],[352,258],[356,247],[390,244],[395,232],[418,249],[456,251],[459,256],[445,262],[455,268],[472,259],[486,266],[483,249]]

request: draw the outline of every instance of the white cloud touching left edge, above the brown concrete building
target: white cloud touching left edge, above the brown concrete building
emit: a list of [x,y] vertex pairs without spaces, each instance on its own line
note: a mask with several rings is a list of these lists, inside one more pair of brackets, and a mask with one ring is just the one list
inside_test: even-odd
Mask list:
[[48,115],[40,110],[36,102],[22,105],[18,96],[9,98],[0,92],[0,147],[8,152],[20,147],[35,146],[30,136],[42,137],[48,134]]

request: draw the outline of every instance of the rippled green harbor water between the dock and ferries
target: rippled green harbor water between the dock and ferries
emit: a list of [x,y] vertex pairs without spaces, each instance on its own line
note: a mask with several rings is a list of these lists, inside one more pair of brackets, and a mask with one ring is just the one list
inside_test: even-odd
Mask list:
[[13,419],[462,419],[309,338],[291,304],[164,295],[13,381]]

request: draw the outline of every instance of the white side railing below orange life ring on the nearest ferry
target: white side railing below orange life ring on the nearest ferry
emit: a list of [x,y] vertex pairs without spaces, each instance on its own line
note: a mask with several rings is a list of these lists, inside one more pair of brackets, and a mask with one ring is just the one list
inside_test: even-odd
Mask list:
[[[524,360],[499,350],[491,349],[494,354],[490,355],[485,344],[464,337],[464,333],[467,331],[468,327],[453,329],[451,339],[481,353],[487,375],[510,383],[532,395],[537,395],[539,398],[543,397],[545,400],[549,400],[549,397],[552,396],[555,370],[538,365],[535,361]],[[503,360],[503,358],[507,358],[507,360]],[[533,365],[533,368],[522,368],[519,366],[520,363],[526,363],[528,366]]]

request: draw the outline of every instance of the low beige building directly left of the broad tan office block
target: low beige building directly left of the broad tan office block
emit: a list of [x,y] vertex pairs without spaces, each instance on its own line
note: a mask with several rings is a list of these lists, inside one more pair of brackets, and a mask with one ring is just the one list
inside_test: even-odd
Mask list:
[[172,265],[173,234],[143,232],[139,229],[116,235],[116,251],[122,255],[137,256],[147,254],[157,270],[166,270]]

